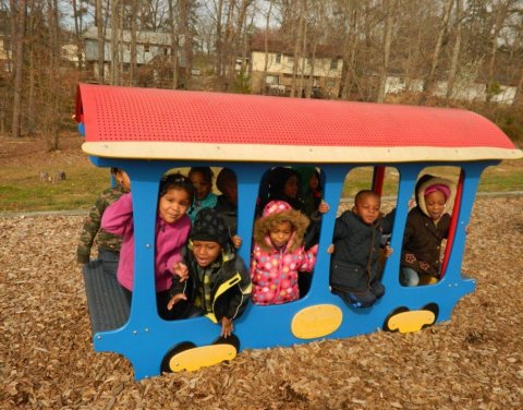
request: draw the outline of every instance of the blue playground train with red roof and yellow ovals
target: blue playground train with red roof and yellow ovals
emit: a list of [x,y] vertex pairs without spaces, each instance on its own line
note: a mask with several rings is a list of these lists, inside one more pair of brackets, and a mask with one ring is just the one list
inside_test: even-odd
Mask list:
[[[129,359],[135,379],[162,371],[193,371],[232,360],[243,349],[348,338],[377,329],[417,331],[450,319],[454,305],[475,288],[462,275],[465,227],[482,172],[522,152],[494,123],[459,109],[292,99],[221,93],[80,84],[76,121],[83,150],[97,167],[118,167],[131,178],[135,268],[131,308],[114,277],[96,264],[84,268],[94,348]],[[248,264],[260,180],[273,167],[312,166],[321,171],[324,198],[319,252],[311,289],[300,300],[260,306],[250,302],[234,323],[235,346],[215,343],[207,317],[165,321],[155,299],[155,219],[161,177],[172,169],[228,167],[238,177],[239,254]],[[329,288],[336,208],[353,169],[374,170],[368,189],[384,190],[386,169],[398,176],[396,217],[376,304],[354,309]],[[457,197],[435,284],[403,287],[400,255],[409,202],[427,167],[457,169]]]

